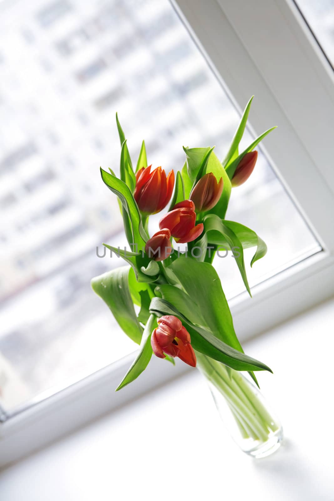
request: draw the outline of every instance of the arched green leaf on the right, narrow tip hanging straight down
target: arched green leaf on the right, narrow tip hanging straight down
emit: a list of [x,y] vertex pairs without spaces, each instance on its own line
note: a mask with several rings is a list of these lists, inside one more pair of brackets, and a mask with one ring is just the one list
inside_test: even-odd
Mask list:
[[[250,294],[250,289],[247,280],[247,274],[245,269],[245,262],[243,259],[243,248],[242,243],[234,231],[226,224],[225,221],[221,220],[216,214],[209,214],[204,217],[204,231],[207,235],[209,243],[219,243],[219,237],[224,242],[227,242],[228,247],[233,252],[234,260],[239,268],[243,283]],[[224,243],[220,243],[224,245]]]

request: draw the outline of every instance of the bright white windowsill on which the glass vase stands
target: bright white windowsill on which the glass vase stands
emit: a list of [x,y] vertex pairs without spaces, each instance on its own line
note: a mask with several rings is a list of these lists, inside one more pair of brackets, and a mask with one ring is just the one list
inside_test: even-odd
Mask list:
[[5,469],[2,499],[333,499],[333,326],[334,299],[246,343],[274,371],[258,378],[286,437],[273,456],[238,449],[193,371]]

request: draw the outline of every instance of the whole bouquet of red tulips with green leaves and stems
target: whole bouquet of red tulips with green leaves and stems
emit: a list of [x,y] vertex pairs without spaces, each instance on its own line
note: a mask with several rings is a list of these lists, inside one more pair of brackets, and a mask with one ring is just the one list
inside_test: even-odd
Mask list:
[[[268,441],[273,438],[279,441],[280,425],[255,386],[254,372],[270,369],[244,354],[212,262],[221,248],[233,253],[250,294],[243,250],[255,247],[251,265],[266,253],[266,245],[255,231],[225,219],[232,187],[248,179],[257,159],[254,148],[274,129],[239,152],[251,101],[223,161],[214,148],[184,147],[183,168],[176,175],[171,170],[167,176],[161,167],[147,165],[144,141],[133,168],[116,114],[120,178],[111,169],[101,169],[101,176],[119,198],[129,249],[104,245],[128,266],[92,280],[93,290],[108,305],[122,330],[139,344],[117,390],[136,379],[153,354],[172,363],[178,357],[191,367],[197,365],[212,391],[224,398],[243,443],[247,443],[243,448],[250,453],[264,445],[268,450]],[[168,204],[159,228],[150,236],[149,216]],[[181,251],[179,243],[186,243],[186,248]],[[255,384],[239,371],[246,371]]]

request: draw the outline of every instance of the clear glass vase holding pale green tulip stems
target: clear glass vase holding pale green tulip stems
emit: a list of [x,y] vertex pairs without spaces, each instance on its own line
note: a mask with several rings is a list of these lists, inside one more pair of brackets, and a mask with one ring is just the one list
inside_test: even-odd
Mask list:
[[241,372],[196,353],[197,368],[206,377],[222,421],[247,454],[259,458],[275,452],[283,429],[259,389]]

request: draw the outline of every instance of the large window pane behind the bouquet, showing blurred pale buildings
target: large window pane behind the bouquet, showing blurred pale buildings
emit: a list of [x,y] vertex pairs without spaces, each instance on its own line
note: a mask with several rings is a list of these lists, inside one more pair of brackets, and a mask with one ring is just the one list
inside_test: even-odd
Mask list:
[[[123,264],[96,254],[102,241],[125,245],[99,175],[118,171],[116,110],[133,159],[145,138],[149,163],[167,171],[182,167],[182,145],[215,144],[222,158],[239,115],[167,0],[4,2],[0,28],[0,387],[11,410],[136,349],[90,289]],[[250,284],[319,250],[261,152],[228,218],[268,244]],[[230,257],[216,265],[229,298],[244,290]]]

